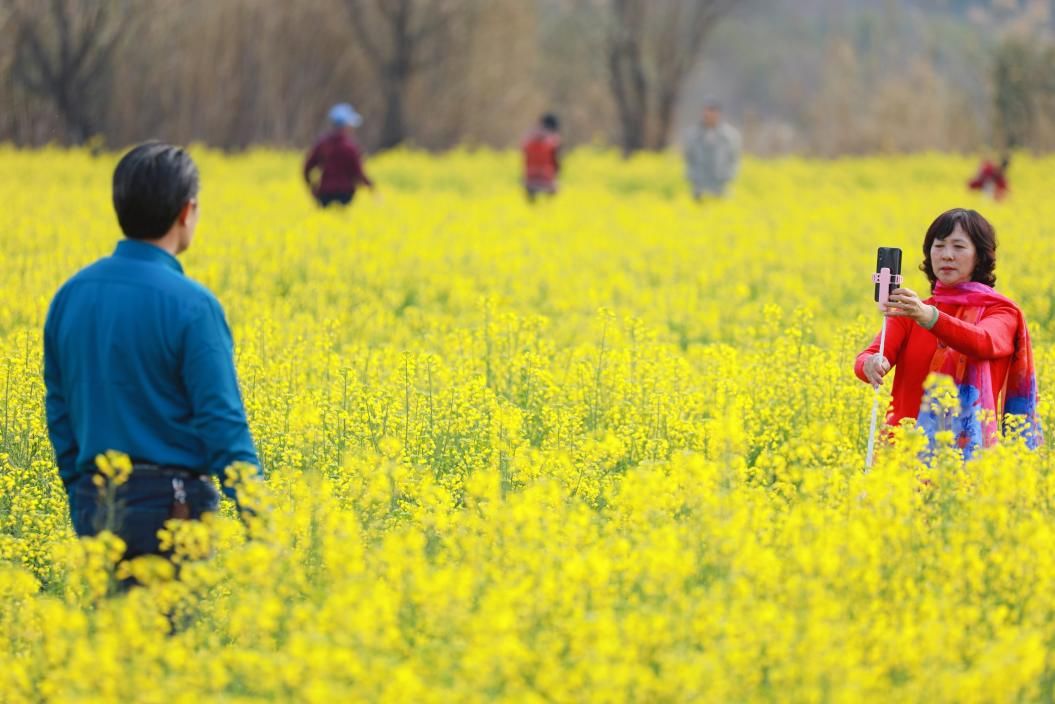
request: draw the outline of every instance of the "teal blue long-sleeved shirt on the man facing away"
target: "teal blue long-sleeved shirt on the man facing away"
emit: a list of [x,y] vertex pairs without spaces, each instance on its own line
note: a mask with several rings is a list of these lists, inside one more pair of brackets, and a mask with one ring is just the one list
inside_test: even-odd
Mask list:
[[44,323],[47,431],[64,483],[117,450],[223,476],[260,465],[216,298],[135,240],[81,269]]

